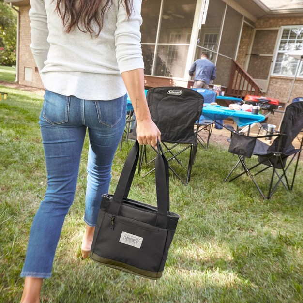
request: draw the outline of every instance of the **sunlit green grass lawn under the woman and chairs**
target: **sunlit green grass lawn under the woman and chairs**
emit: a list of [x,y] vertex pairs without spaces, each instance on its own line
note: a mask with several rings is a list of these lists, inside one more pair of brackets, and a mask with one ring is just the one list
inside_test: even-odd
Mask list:
[[[5,91],[8,98],[0,101],[0,302],[13,303],[20,302],[24,280],[19,275],[46,173],[38,125],[42,98]],[[198,148],[189,185],[171,175],[170,208],[181,219],[163,277],[153,281],[79,258],[87,147],[86,140],[75,202],[41,302],[303,302],[302,161],[293,191],[279,186],[264,201],[246,177],[223,182],[236,162],[226,147],[211,143],[209,150]],[[116,153],[111,193],[131,147],[132,142],[123,142]],[[129,197],[155,204],[154,175],[136,174]]]

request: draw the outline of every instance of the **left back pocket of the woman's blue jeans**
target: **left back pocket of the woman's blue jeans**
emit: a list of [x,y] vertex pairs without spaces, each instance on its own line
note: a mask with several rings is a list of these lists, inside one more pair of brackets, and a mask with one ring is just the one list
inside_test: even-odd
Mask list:
[[52,91],[45,91],[43,117],[52,124],[68,122],[70,97]]

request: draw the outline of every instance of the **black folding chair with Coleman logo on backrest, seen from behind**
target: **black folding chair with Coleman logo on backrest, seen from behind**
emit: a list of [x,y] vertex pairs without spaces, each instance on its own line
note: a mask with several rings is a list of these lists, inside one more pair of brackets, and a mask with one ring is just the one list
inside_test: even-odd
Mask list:
[[[203,96],[197,91],[184,87],[156,87],[147,92],[147,102],[152,120],[161,132],[161,143],[163,148],[166,149],[164,153],[169,168],[183,184],[190,181],[192,166],[195,161],[197,132],[194,126],[201,116],[203,101]],[[187,152],[188,164],[186,166],[183,164],[184,161],[181,160],[181,153],[187,150],[189,150],[189,153]],[[146,146],[141,149],[139,172],[144,158],[146,160]],[[172,162],[178,166],[186,167],[185,178],[181,176],[182,171],[177,173],[177,169]]]

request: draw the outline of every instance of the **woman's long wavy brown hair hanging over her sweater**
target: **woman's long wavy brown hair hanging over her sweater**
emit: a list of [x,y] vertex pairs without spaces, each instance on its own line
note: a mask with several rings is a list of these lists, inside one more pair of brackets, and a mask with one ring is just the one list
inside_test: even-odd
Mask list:
[[[65,32],[77,27],[82,32],[98,36],[103,28],[106,9],[113,0],[57,0],[56,11],[61,16]],[[133,0],[120,0],[125,6],[128,18],[132,12]],[[97,32],[94,30],[97,26]]]

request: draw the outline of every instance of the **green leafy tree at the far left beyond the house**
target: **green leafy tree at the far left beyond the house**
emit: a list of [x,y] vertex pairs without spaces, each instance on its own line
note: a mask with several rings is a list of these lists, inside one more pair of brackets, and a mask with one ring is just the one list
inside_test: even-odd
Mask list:
[[17,14],[0,0],[0,65],[16,64]]

